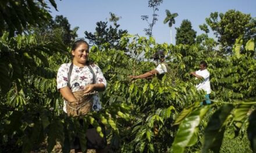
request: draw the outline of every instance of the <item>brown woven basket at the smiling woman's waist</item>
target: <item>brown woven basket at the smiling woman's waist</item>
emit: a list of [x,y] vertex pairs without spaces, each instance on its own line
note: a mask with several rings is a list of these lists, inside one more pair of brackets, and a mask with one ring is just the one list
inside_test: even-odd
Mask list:
[[86,115],[93,107],[93,93],[84,94],[84,90],[73,92],[76,101],[66,101],[66,110],[68,116]]

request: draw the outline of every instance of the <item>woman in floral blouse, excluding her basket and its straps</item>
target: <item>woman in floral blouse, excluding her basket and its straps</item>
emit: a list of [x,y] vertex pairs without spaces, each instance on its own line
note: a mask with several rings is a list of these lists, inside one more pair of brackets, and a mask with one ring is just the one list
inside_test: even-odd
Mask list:
[[[106,88],[106,79],[104,78],[101,69],[97,65],[88,61],[88,43],[83,40],[74,42],[71,53],[73,56],[73,62],[62,64],[57,74],[57,88],[65,99],[63,106],[63,111],[65,112],[67,112],[66,102],[69,101],[69,103],[72,103],[72,101],[77,100],[73,92],[83,90],[86,94],[94,91],[102,92]],[[73,64],[73,68],[72,71],[70,71],[70,80],[68,80],[68,73],[71,64]],[[90,67],[95,75],[91,72]],[[93,83],[94,76],[96,79],[95,83]],[[99,103],[98,94],[94,94],[92,110],[99,111],[100,109],[101,104]],[[101,151],[98,150],[97,152]]]

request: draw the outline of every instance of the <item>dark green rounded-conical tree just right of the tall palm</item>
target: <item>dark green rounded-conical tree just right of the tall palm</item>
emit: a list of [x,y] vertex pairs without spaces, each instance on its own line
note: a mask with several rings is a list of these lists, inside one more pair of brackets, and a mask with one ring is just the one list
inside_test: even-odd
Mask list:
[[185,45],[192,45],[195,43],[197,32],[193,30],[189,20],[183,20],[179,28],[176,28],[176,45],[182,43]]

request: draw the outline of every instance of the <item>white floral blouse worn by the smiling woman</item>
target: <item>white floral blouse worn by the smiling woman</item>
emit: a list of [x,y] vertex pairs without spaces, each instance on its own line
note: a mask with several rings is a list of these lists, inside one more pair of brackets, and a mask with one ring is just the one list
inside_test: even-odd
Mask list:
[[[69,67],[71,63],[62,64],[58,70],[57,74],[57,88],[61,89],[67,85],[67,73],[69,72]],[[103,83],[106,88],[106,79],[101,72],[101,69],[98,65],[91,64],[91,68],[96,75],[96,83]],[[70,86],[72,92],[76,92],[78,90],[83,90],[84,87],[88,84],[93,83],[93,74],[87,66],[77,67],[73,65],[73,70],[70,76]],[[101,110],[101,103],[99,101],[98,94],[93,96],[93,111]],[[66,112],[66,101],[64,101],[63,111]]]

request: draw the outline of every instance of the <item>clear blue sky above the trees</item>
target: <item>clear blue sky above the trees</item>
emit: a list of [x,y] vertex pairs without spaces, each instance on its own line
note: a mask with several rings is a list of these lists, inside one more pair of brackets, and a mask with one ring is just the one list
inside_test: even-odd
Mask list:
[[[71,28],[79,27],[77,34],[80,38],[85,37],[84,31],[95,32],[98,21],[108,21],[109,12],[122,17],[118,21],[120,29],[141,37],[146,36],[143,30],[148,27],[147,22],[141,20],[141,16],[148,15],[149,20],[152,20],[153,11],[152,8],[148,8],[148,0],[55,0],[55,2],[58,12],[50,9],[52,17],[56,15],[67,17]],[[170,13],[179,14],[172,27],[173,43],[175,43],[175,27],[180,27],[184,19],[190,20],[193,29],[197,31],[197,35],[200,35],[203,32],[198,26],[205,23],[205,18],[209,17],[211,12],[225,13],[229,9],[235,9],[256,17],[256,0],[163,0],[158,8],[158,21],[152,30],[152,35],[158,43],[170,43],[170,28],[168,23],[163,24],[166,9],[170,10]],[[211,33],[209,37],[214,35]]]

